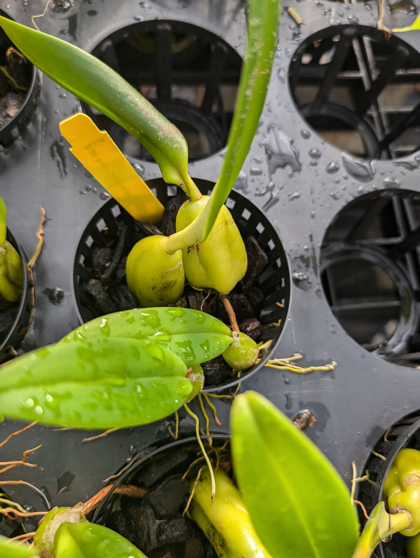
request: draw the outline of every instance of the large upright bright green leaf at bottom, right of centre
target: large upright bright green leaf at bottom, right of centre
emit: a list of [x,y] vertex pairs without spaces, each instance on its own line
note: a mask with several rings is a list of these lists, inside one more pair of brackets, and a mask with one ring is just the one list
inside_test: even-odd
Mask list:
[[273,558],[350,558],[358,519],[350,493],[316,446],[253,391],[231,412],[235,476]]

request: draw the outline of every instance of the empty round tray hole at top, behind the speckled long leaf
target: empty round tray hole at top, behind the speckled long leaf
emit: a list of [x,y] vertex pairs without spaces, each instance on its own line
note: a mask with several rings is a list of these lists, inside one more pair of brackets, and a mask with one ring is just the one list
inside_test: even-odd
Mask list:
[[[220,37],[180,21],[133,23],[92,52],[123,76],[184,134],[190,160],[226,145],[242,59]],[[153,161],[124,128],[82,103],[128,156]]]

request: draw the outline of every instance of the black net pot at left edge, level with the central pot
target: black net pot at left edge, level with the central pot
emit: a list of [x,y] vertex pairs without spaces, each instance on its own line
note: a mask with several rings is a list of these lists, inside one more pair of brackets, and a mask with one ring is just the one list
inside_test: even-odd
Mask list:
[[26,268],[25,252],[9,229],[7,229],[6,239],[21,257],[25,273],[20,300],[12,305],[7,304],[3,308],[0,306],[0,363],[15,357],[28,333],[33,311],[33,286],[30,285]]

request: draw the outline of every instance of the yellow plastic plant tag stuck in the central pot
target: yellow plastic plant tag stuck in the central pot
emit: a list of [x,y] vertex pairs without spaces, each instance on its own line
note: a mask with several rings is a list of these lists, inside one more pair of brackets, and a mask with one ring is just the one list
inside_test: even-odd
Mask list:
[[134,219],[157,223],[162,218],[163,205],[87,114],[73,114],[60,122],[60,132],[73,155]]

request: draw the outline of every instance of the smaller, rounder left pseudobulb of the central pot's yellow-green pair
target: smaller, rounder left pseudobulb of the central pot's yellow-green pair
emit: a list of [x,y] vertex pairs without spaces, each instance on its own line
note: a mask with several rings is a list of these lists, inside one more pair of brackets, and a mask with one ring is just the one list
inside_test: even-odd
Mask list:
[[167,254],[162,235],[142,238],[128,254],[127,285],[140,306],[167,306],[182,295],[185,286],[182,254]]

